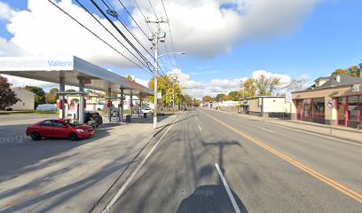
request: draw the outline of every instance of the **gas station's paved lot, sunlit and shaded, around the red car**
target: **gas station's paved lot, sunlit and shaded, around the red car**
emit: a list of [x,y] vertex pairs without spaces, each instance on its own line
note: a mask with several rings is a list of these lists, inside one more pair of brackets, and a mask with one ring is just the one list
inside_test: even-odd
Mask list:
[[0,115],[1,212],[90,211],[124,169],[138,161],[135,156],[156,132],[148,116],[130,124],[106,123],[93,137],[78,141],[25,136],[29,124],[55,117]]

